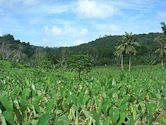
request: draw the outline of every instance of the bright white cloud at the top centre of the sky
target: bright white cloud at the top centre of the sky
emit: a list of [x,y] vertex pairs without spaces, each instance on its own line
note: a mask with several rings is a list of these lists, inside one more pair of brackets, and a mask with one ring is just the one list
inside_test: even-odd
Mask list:
[[76,12],[80,17],[108,18],[115,15],[118,12],[118,9],[109,2],[78,0]]

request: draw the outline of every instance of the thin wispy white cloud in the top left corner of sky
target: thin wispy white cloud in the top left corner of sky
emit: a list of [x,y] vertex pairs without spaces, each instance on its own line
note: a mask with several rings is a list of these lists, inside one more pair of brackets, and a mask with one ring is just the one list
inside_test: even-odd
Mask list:
[[[48,14],[58,14],[66,12],[70,5],[59,5],[57,2],[50,4],[42,0],[0,0],[0,6],[12,9],[15,13],[25,13],[26,15],[45,16]],[[21,9],[18,11],[16,8]]]

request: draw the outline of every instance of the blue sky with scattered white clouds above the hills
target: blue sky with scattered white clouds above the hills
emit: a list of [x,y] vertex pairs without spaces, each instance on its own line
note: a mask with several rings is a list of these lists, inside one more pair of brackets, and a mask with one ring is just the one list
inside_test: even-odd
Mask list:
[[161,32],[166,0],[0,0],[0,35],[60,47],[105,35]]

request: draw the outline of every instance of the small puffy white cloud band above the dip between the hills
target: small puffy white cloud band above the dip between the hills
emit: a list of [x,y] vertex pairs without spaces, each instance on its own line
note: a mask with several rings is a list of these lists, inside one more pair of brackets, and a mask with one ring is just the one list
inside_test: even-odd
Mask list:
[[56,26],[56,25],[52,27],[46,26],[44,28],[44,32],[46,34],[52,34],[55,36],[63,36],[63,37],[69,37],[69,38],[82,38],[88,35],[88,29],[74,27],[71,25],[64,25],[62,27]]

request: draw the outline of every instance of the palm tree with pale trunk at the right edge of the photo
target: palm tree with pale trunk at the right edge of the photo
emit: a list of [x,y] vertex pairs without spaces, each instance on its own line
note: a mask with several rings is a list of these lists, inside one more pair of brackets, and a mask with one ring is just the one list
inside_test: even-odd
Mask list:
[[166,56],[166,38],[164,35],[157,38],[157,41],[160,44],[160,47],[156,49],[155,53],[158,53],[161,58],[161,66],[164,69],[164,57]]

